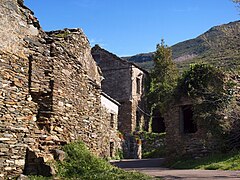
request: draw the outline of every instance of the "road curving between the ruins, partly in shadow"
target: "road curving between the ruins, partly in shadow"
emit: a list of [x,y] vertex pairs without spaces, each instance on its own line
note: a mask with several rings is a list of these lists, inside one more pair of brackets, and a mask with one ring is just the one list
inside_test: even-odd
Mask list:
[[171,179],[213,179],[213,180],[240,180],[240,171],[216,171],[216,170],[174,170],[161,168],[164,159],[121,160],[112,161],[115,166],[127,171],[140,171],[144,174],[165,180]]

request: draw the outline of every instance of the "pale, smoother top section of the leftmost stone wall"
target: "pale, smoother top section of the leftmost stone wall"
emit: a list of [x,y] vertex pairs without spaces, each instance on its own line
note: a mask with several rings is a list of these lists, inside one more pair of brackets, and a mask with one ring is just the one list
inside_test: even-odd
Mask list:
[[[32,18],[32,19],[31,19]],[[0,49],[25,56],[24,38],[37,36],[32,12],[17,3],[17,0],[1,0],[0,4]]]

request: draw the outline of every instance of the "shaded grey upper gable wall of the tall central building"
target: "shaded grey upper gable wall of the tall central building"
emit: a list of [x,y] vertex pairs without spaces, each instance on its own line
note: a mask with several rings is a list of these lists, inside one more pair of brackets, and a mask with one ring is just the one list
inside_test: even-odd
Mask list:
[[119,102],[132,98],[131,64],[99,46],[92,48],[92,55],[101,68],[103,91]]

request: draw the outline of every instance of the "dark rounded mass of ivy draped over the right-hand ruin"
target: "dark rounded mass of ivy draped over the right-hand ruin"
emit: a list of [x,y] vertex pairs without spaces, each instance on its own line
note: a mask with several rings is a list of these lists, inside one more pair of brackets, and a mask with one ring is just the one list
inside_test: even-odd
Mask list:
[[227,81],[222,70],[195,64],[179,80],[175,97],[189,96],[198,125],[218,136],[224,133],[224,111],[232,98],[231,87],[231,81]]

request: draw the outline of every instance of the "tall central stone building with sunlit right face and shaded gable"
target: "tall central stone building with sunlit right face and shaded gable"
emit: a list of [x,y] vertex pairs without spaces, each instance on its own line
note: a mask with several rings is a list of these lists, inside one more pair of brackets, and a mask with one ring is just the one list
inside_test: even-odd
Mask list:
[[92,55],[101,68],[102,89],[120,104],[119,130],[123,133],[147,129],[146,90],[148,72],[102,49],[92,48]]

